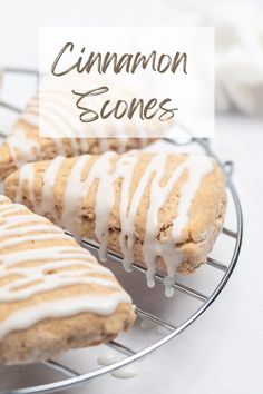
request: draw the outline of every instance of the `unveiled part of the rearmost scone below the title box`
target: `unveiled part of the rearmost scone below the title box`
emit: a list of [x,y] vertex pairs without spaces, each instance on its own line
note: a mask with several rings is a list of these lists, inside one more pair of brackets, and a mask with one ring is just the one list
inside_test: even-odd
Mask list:
[[51,160],[57,155],[75,157],[81,154],[99,155],[106,150],[127,151],[153,142],[154,138],[40,138],[38,127],[18,120],[11,138],[0,147],[0,180],[26,162]]

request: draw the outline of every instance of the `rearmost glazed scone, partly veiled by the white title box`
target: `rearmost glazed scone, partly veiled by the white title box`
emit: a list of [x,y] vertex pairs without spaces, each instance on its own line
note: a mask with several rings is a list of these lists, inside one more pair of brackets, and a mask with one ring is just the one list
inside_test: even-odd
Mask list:
[[[89,99],[95,109],[104,102],[100,96]],[[107,119],[103,125],[81,122],[79,111],[76,114],[74,107],[69,92],[58,89],[37,91],[19,116],[11,135],[0,146],[0,180],[26,162],[50,160],[59,155],[76,157],[107,150],[123,154],[143,148],[171,126],[171,122],[142,122],[136,118],[125,122]]]

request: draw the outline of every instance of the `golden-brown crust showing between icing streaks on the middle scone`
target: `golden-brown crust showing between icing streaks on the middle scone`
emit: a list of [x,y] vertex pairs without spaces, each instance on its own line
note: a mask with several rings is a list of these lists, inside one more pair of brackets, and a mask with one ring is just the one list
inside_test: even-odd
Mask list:
[[[133,177],[129,188],[129,203],[128,209],[130,208],[130,201],[138,188],[139,181],[142,180],[144,174],[147,171],[149,164],[156,158],[157,154],[152,152],[137,152],[138,160],[133,168]],[[185,155],[165,154],[165,168],[164,175],[159,181],[160,187],[167,187],[171,178],[174,176],[176,170],[184,164],[187,158],[191,160],[192,157]],[[110,174],[115,171],[119,160],[124,158],[125,155],[118,156],[114,155],[111,160],[111,166],[105,169],[105,176],[103,175],[100,180],[105,177],[109,177]],[[127,155],[126,155],[127,157]],[[98,156],[87,156],[87,161],[81,173],[82,180],[87,179],[90,170],[96,165],[99,159]],[[76,166],[78,158],[65,159],[56,176],[56,181],[53,187],[49,190],[49,198],[53,198],[55,211],[41,211],[41,214],[49,217],[51,220],[61,224],[61,215],[65,209],[65,193],[68,187],[68,181],[72,168]],[[197,158],[198,160],[206,160]],[[157,229],[152,239],[153,248],[154,244],[158,243],[158,248],[165,249],[165,247],[171,246],[171,255],[175,254],[181,256],[179,264],[177,264],[176,270],[182,274],[189,274],[202,263],[206,262],[207,254],[213,247],[213,244],[222,228],[226,207],[226,191],[225,191],[225,178],[220,169],[220,167],[214,162],[213,159],[207,158],[206,164],[212,166],[211,169],[201,177],[196,193],[194,193],[193,198],[189,204],[187,211],[187,223],[183,226],[179,234],[179,239],[173,242],[172,230],[173,223],[179,216],[179,204],[181,200],[185,199],[184,187],[191,184],[191,173],[187,168],[182,173],[182,176],[174,183],[171,191],[167,195],[164,204],[157,210]],[[18,198],[26,204],[31,209],[39,211],[39,207],[42,200],[42,187],[43,177],[50,166],[50,162],[38,162],[32,166],[33,169],[33,184],[31,185],[32,190],[29,190],[29,185],[25,181],[22,185],[19,184],[20,174],[14,173],[4,183],[4,188],[7,195],[11,199]],[[193,167],[193,166],[192,166]],[[192,168],[193,174],[195,168]],[[197,170],[197,169],[196,169]],[[155,194],[152,188],[153,180],[156,176],[156,171],[153,171],[144,187],[144,193],[142,195],[139,205],[136,209],[134,217],[134,244],[133,253],[134,259],[145,266],[145,243],[148,234],[146,232],[146,220],[149,211],[150,196]],[[20,179],[21,180],[21,179]],[[120,235],[124,228],[121,228],[120,220],[120,200],[121,200],[121,188],[124,183],[124,176],[119,176],[114,180],[114,206],[110,209],[108,217],[108,248],[121,254]],[[88,190],[86,190],[85,196],[81,199],[81,217],[80,223],[75,228],[75,233],[81,237],[94,239],[98,242],[96,236],[96,196],[98,190],[99,179],[94,179]],[[20,186],[19,186],[20,185]],[[159,189],[159,195],[162,195],[162,189]],[[33,195],[35,201],[31,200],[30,196]],[[156,191],[156,196],[158,195]],[[70,201],[70,199],[69,199]],[[72,198],[72,205],[74,205]],[[101,209],[104,206],[100,207]],[[99,207],[98,207],[99,209]],[[107,220],[107,219],[105,219]],[[64,223],[61,224],[65,225]],[[66,224],[67,227],[67,224]],[[69,226],[70,227],[70,226]],[[69,228],[70,230],[71,228]],[[176,259],[176,256],[175,256]],[[167,264],[162,256],[162,250],[158,255],[156,253],[156,267],[164,274],[167,274]]]

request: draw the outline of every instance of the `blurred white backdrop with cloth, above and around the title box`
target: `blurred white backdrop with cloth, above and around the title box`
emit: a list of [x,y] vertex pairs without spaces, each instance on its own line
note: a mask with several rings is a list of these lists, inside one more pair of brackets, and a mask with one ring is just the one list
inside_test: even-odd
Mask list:
[[1,1],[0,67],[38,66],[39,26],[214,26],[216,111],[263,115],[262,1]]

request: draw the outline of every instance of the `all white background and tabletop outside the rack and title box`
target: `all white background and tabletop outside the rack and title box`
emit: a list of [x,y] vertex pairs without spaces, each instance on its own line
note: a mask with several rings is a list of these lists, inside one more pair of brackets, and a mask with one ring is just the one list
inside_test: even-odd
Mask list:
[[[67,393],[262,394],[263,2],[1,0],[0,6],[0,69],[38,67],[40,26],[215,27],[212,144],[223,160],[234,161],[245,216],[237,268],[217,302],[182,336],[147,357],[137,377],[101,377]],[[25,82],[8,75],[0,100],[22,106],[35,87],[35,78]],[[7,117],[0,112],[2,129]]]

